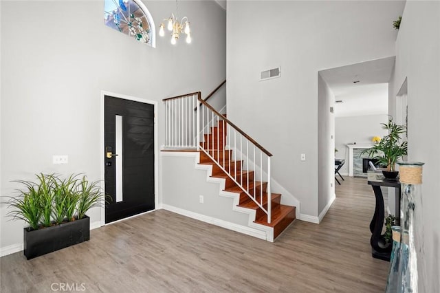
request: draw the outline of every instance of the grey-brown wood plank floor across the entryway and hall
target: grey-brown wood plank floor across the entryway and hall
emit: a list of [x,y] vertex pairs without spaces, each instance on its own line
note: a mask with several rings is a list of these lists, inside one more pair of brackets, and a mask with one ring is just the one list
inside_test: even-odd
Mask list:
[[85,292],[384,292],[388,263],[369,244],[372,188],[347,177],[336,194],[320,225],[295,221],[275,243],[157,210],[30,261],[2,257],[1,292],[52,292],[52,283]]

